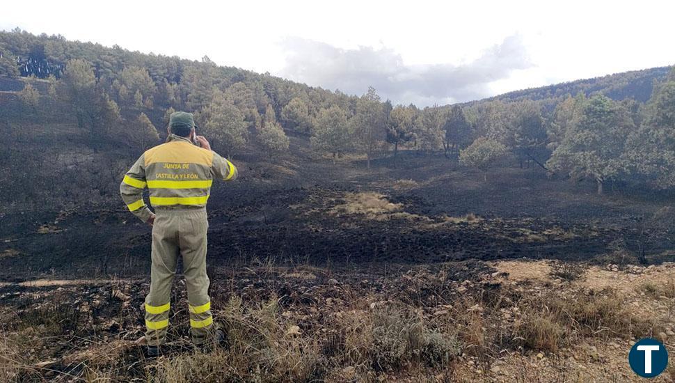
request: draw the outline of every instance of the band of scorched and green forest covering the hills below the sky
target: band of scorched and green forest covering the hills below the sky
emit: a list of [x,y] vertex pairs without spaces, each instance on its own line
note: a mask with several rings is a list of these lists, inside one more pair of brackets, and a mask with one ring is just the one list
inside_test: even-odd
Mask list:
[[[670,68],[420,109],[382,100],[374,88],[346,95],[207,56],[189,61],[17,29],[0,32],[0,106],[0,129],[13,137],[1,144],[3,168],[24,170],[3,172],[0,198],[10,202],[38,201],[47,190],[59,201],[76,193],[74,182],[105,194],[134,157],[160,142],[175,110],[195,113],[200,134],[235,159],[293,155],[295,136],[333,162],[363,156],[367,167],[384,155],[395,166],[408,150],[480,170],[511,157],[551,176],[596,182],[598,193],[608,182],[675,187]],[[38,160],[27,164],[28,156]]]

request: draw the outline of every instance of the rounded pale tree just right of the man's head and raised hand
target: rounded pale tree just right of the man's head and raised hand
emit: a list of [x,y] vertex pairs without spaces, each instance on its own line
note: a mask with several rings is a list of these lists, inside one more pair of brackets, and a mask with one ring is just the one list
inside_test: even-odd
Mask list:
[[204,134],[214,144],[223,146],[229,157],[248,141],[244,114],[221,91],[214,91],[210,98],[211,102],[201,113],[201,117],[206,120]]

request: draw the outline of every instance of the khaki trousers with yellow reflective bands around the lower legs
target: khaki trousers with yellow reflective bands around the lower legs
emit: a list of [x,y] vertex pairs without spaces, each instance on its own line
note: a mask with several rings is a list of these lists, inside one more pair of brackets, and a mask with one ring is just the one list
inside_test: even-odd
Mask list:
[[192,341],[201,344],[211,334],[213,317],[206,274],[205,208],[157,209],[152,226],[150,292],[145,297],[145,339],[148,345],[166,341],[170,295],[178,255],[183,257]]

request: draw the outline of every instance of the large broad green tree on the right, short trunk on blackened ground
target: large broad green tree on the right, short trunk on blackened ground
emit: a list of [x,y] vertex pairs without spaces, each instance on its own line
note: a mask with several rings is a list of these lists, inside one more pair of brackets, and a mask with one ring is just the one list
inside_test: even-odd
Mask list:
[[607,180],[626,171],[624,147],[633,130],[628,111],[603,95],[591,97],[579,124],[555,149],[547,164],[553,171],[565,171],[571,177],[588,177],[603,193]]

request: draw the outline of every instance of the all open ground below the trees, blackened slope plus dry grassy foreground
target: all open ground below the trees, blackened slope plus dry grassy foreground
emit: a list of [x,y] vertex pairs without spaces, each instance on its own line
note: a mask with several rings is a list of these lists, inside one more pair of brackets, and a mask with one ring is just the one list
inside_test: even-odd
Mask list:
[[[170,347],[143,357],[150,228],[121,202],[10,206],[0,377],[618,382],[634,377],[636,338],[675,339],[672,230],[646,224],[672,196],[597,196],[510,164],[483,182],[414,153],[370,170],[249,160],[209,199],[210,294],[229,349],[189,344],[179,272]],[[634,266],[640,247],[657,266]]]

